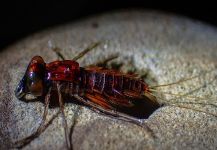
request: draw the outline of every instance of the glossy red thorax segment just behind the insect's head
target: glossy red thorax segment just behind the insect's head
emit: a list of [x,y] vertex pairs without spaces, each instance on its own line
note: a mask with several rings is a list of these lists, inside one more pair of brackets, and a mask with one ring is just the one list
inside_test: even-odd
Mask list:
[[54,61],[46,64],[47,79],[54,81],[75,81],[79,74],[79,64],[76,61]]

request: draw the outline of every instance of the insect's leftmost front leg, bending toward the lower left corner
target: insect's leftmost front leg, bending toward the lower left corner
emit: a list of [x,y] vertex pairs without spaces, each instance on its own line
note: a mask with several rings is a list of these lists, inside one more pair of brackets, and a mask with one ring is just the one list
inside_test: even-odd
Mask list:
[[[49,107],[49,103],[50,103],[50,92],[51,92],[51,88],[48,91],[48,94],[45,97],[45,109],[44,109],[44,114],[42,117],[42,121],[37,129],[37,131],[35,133],[33,133],[32,135],[15,142],[14,144],[14,148],[22,148],[24,146],[26,146],[27,144],[29,144],[33,139],[35,139],[36,137],[38,137],[47,127],[48,125],[53,121],[54,118],[52,118],[49,123],[47,123],[47,125],[45,125],[45,121],[46,121],[46,116],[48,113],[48,107]],[[57,115],[55,115],[56,117]]]

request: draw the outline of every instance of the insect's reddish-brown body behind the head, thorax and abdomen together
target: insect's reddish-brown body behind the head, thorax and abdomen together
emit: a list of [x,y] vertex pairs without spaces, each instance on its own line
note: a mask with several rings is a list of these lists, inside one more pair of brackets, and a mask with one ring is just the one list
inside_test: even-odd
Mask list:
[[114,70],[81,68],[70,60],[55,61],[46,64],[46,80],[52,84],[61,82],[61,92],[67,99],[77,95],[84,100],[82,103],[101,112],[147,118],[159,107],[150,100],[151,95],[147,97],[148,85],[144,81]]

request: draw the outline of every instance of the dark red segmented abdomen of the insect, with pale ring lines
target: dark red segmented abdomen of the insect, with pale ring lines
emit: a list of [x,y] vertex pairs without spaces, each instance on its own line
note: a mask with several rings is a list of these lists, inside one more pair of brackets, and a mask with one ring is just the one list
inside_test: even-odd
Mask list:
[[147,84],[133,75],[101,68],[81,69],[81,86],[89,92],[116,98],[138,98],[148,90]]

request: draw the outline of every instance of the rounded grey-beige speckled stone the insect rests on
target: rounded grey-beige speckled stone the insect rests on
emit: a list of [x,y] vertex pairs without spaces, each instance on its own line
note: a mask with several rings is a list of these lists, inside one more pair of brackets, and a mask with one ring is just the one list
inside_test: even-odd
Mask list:
[[[98,25],[96,25],[98,24]],[[106,41],[87,54],[81,65],[94,63],[120,52],[116,60],[138,72],[146,72],[158,84],[171,83],[216,68],[217,30],[186,18],[155,12],[120,12],[100,15],[77,23],[46,30],[8,47],[0,53],[0,149],[34,132],[40,122],[43,104],[24,103],[14,96],[14,89],[34,55],[47,62],[56,55],[48,41],[63,49],[68,59],[95,41]],[[130,65],[129,65],[130,64]],[[211,82],[215,72],[162,91],[185,93]],[[216,81],[192,94],[206,97],[176,98],[173,102],[215,103]],[[159,102],[170,99],[165,94]],[[209,105],[182,104],[217,114]],[[69,125],[76,106],[66,104]],[[57,109],[49,110],[49,118]],[[99,115],[82,108],[72,135],[75,149],[216,149],[217,118],[194,110],[165,106],[155,111],[146,124],[155,138],[141,127]],[[24,149],[64,149],[61,118]]]

